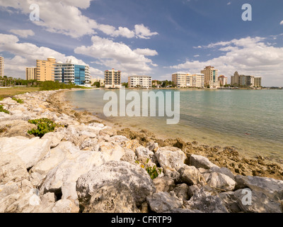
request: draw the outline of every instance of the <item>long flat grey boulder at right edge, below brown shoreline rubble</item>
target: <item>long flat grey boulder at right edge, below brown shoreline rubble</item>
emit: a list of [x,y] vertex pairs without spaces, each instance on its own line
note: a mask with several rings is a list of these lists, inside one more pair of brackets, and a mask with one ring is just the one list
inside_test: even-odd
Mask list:
[[237,175],[235,178],[237,189],[250,188],[253,191],[262,192],[270,199],[283,199],[283,181],[268,177],[251,177]]

